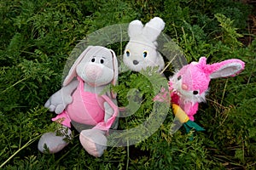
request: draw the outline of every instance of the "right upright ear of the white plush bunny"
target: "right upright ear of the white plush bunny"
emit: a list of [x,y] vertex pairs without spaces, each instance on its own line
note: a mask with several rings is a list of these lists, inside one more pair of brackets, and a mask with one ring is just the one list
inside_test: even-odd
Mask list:
[[143,36],[147,37],[151,42],[157,40],[160,32],[164,30],[166,23],[160,17],[154,17],[143,28]]

